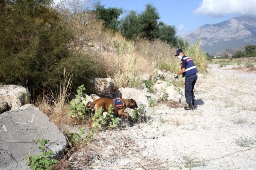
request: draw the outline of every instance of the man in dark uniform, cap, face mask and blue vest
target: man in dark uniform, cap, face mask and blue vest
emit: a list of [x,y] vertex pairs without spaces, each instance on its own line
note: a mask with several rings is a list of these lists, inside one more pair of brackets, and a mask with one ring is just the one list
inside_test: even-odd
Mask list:
[[185,110],[193,110],[195,101],[194,101],[194,86],[196,84],[197,75],[196,73],[198,70],[196,69],[196,66],[192,60],[192,58],[187,57],[184,55],[184,52],[182,49],[178,49],[176,51],[176,56],[178,56],[180,61],[180,68],[181,70],[175,74],[174,78],[178,78],[180,74],[182,74],[182,77],[185,77],[185,98],[186,103],[188,104],[188,107],[184,107]]

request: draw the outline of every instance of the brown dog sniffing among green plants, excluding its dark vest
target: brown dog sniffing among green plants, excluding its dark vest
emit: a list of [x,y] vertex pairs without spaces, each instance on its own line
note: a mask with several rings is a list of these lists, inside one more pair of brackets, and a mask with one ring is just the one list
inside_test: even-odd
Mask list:
[[[129,119],[129,115],[124,113],[124,110],[128,107],[128,108],[131,108],[131,109],[136,109],[138,106],[135,102],[135,100],[133,99],[121,99],[122,102],[124,103],[124,107],[122,108],[119,108],[119,109],[112,109],[112,111],[114,113],[117,113],[118,114],[118,117],[120,116],[125,116],[126,119],[128,120]],[[110,104],[112,104],[112,106],[114,107],[114,101],[113,99],[109,99],[109,98],[99,98],[97,100],[95,100],[94,102],[92,102],[90,105],[89,105],[89,102],[86,104],[86,108],[87,109],[94,109],[94,113],[96,113],[96,111],[102,107],[102,109],[104,111],[108,111],[108,108],[110,107]]]

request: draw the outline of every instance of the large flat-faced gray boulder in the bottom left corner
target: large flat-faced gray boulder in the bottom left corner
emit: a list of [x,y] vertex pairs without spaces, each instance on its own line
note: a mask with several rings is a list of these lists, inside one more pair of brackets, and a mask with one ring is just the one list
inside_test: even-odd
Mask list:
[[58,154],[66,146],[66,138],[40,109],[26,104],[0,115],[0,169],[26,170],[25,156],[40,154],[33,140],[48,139],[47,148]]

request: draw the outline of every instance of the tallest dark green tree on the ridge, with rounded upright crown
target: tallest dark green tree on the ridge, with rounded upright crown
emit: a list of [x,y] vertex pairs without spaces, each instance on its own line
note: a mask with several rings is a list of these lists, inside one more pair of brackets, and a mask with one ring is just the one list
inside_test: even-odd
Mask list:
[[146,9],[139,15],[142,25],[141,35],[150,40],[156,38],[156,33],[163,22],[159,21],[160,16],[156,7],[152,4],[146,4]]

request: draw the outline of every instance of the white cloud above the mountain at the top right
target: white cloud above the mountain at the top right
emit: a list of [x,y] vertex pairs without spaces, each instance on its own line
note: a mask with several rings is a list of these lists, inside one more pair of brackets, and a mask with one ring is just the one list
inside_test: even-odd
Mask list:
[[256,0],[203,0],[195,12],[212,17],[227,14],[256,16]]

